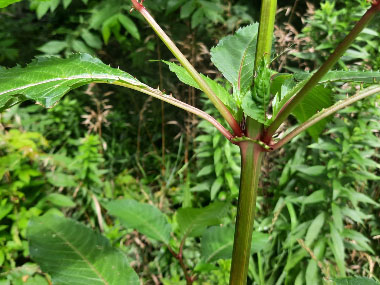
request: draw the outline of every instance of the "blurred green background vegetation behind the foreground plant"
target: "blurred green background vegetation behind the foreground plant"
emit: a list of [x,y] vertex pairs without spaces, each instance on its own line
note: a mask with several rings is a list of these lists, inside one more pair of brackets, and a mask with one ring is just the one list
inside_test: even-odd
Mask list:
[[[260,2],[144,4],[195,67],[218,78],[210,48],[257,21]],[[318,67],[367,7],[365,0],[279,0],[275,49],[285,52],[273,68]],[[25,0],[1,9],[0,65],[86,52],[217,116],[160,62],[173,56],[130,8],[127,0]],[[375,20],[364,30],[339,68],[379,69],[379,27]],[[357,88],[337,85],[332,96]],[[251,284],[322,284],[338,272],[380,278],[379,99],[340,112],[318,141],[301,135],[264,165],[255,222],[263,244],[252,255]],[[185,284],[167,249],[125,230],[101,205],[133,198],[175,225],[179,207],[231,200],[225,223],[232,225],[239,171],[238,148],[211,125],[126,89],[93,84],[50,110],[14,107],[0,114],[0,284],[48,284],[29,258],[25,231],[31,217],[49,211],[101,231],[133,260],[144,284]],[[200,247],[187,239],[184,251],[199,284],[228,284],[230,261],[200,263]]]

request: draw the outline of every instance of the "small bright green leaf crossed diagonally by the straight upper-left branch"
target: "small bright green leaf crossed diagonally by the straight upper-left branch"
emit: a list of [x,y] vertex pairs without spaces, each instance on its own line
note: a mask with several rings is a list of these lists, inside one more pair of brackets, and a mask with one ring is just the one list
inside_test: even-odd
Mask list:
[[[170,71],[174,72],[180,81],[182,81],[183,83],[187,85],[190,85],[191,87],[201,90],[198,83],[194,81],[194,79],[191,77],[191,75],[187,72],[185,68],[183,68],[182,66],[178,64],[175,64],[174,62],[168,62],[164,60],[163,62],[169,66]],[[226,105],[230,109],[230,111],[232,111],[235,114],[237,111],[237,106],[231,94],[228,93],[228,91],[223,86],[221,86],[219,83],[212,80],[211,78],[208,78],[207,76],[204,76],[203,74],[201,74],[201,77],[210,86],[212,91],[214,91],[215,95],[218,96],[220,101],[222,101],[223,104]]]

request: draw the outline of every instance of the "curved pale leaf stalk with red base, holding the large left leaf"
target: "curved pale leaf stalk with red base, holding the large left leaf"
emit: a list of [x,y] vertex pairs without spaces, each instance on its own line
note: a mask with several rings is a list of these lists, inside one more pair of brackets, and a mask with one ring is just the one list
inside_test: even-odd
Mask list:
[[[107,82],[105,82],[105,83],[107,83]],[[183,109],[183,110],[185,110],[187,112],[195,114],[195,115],[201,117],[202,119],[205,119],[206,121],[210,122],[228,140],[231,141],[234,138],[234,136],[225,127],[223,127],[214,117],[210,116],[209,114],[207,114],[206,112],[204,112],[202,110],[199,110],[198,108],[195,108],[194,106],[191,106],[191,105],[186,104],[186,103],[184,103],[184,102],[182,102],[180,100],[175,99],[173,96],[166,95],[166,94],[162,93],[158,89],[150,88],[147,85],[136,86],[136,85],[133,85],[133,84],[128,84],[128,83],[122,82],[122,81],[114,81],[114,82],[112,82],[112,84],[123,86],[123,87],[127,87],[127,88],[130,88],[130,89],[133,89],[133,90],[145,93],[145,94],[150,95],[150,96],[152,96],[154,98],[157,98],[157,99],[160,99],[160,100],[162,100],[162,101],[164,101],[166,103],[169,103],[169,104],[171,104],[173,106],[181,108],[181,109]]]

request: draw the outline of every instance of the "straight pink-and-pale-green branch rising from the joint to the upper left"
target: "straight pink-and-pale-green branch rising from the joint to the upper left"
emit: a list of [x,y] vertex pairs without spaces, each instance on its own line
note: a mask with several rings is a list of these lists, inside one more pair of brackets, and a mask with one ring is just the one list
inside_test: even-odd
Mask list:
[[210,99],[210,101],[214,104],[214,106],[218,109],[223,118],[227,121],[227,123],[232,128],[234,134],[236,136],[242,135],[242,130],[240,128],[239,123],[235,120],[231,112],[227,109],[227,107],[223,104],[222,101],[215,95],[214,91],[210,88],[210,86],[203,80],[200,74],[195,70],[195,68],[191,65],[191,63],[187,60],[187,58],[182,54],[182,52],[177,48],[174,42],[168,37],[168,35],[161,29],[161,27],[157,24],[157,22],[153,19],[153,17],[149,14],[149,12],[138,3],[136,0],[131,0],[134,7],[140,12],[140,14],[146,19],[149,25],[153,28],[155,33],[160,37],[160,39],[164,42],[164,44],[168,47],[168,49],[172,52],[172,54],[178,59],[178,61],[182,64],[182,66],[186,69],[186,71],[191,75],[191,77],[198,83],[199,87],[206,94],[206,96]]

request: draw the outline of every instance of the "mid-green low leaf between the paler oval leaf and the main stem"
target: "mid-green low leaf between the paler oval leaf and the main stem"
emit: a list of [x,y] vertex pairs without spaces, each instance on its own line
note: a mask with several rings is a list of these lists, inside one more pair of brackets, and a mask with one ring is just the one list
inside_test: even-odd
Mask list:
[[177,211],[177,222],[181,235],[197,237],[208,226],[217,225],[227,215],[229,205],[215,202],[205,208],[181,208]]

